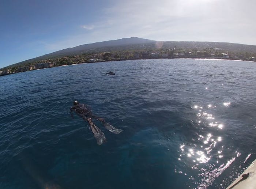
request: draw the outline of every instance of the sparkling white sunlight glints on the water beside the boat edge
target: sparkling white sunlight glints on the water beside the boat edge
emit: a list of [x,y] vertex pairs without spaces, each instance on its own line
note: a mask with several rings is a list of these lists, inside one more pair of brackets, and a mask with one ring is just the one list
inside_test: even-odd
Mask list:
[[[223,103],[224,106],[229,106],[230,102]],[[209,113],[208,109],[217,109],[217,106],[208,104],[208,105],[194,105],[194,109],[197,120],[195,122],[198,126],[201,127],[200,132],[197,132],[198,136],[192,144],[180,144],[180,155],[178,160],[187,160],[191,164],[192,169],[200,170],[199,177],[202,177],[198,184],[198,188],[207,188],[212,184],[215,178],[217,178],[231,163],[235,160],[236,157],[228,160],[225,163],[220,163],[220,159],[224,157],[223,150],[224,147],[221,145],[223,140],[223,124],[215,120],[215,117],[212,113]],[[202,111],[204,110],[204,111]],[[204,127],[215,128],[218,132],[205,132]],[[213,130],[214,131],[214,130]],[[217,145],[217,143],[219,143]],[[240,155],[240,152],[236,152],[236,156]],[[211,159],[215,160],[215,164],[209,164],[208,168],[201,167],[200,164],[207,164]],[[182,171],[181,171],[182,172]],[[180,172],[179,172],[180,173]],[[189,179],[194,179],[193,177]]]

